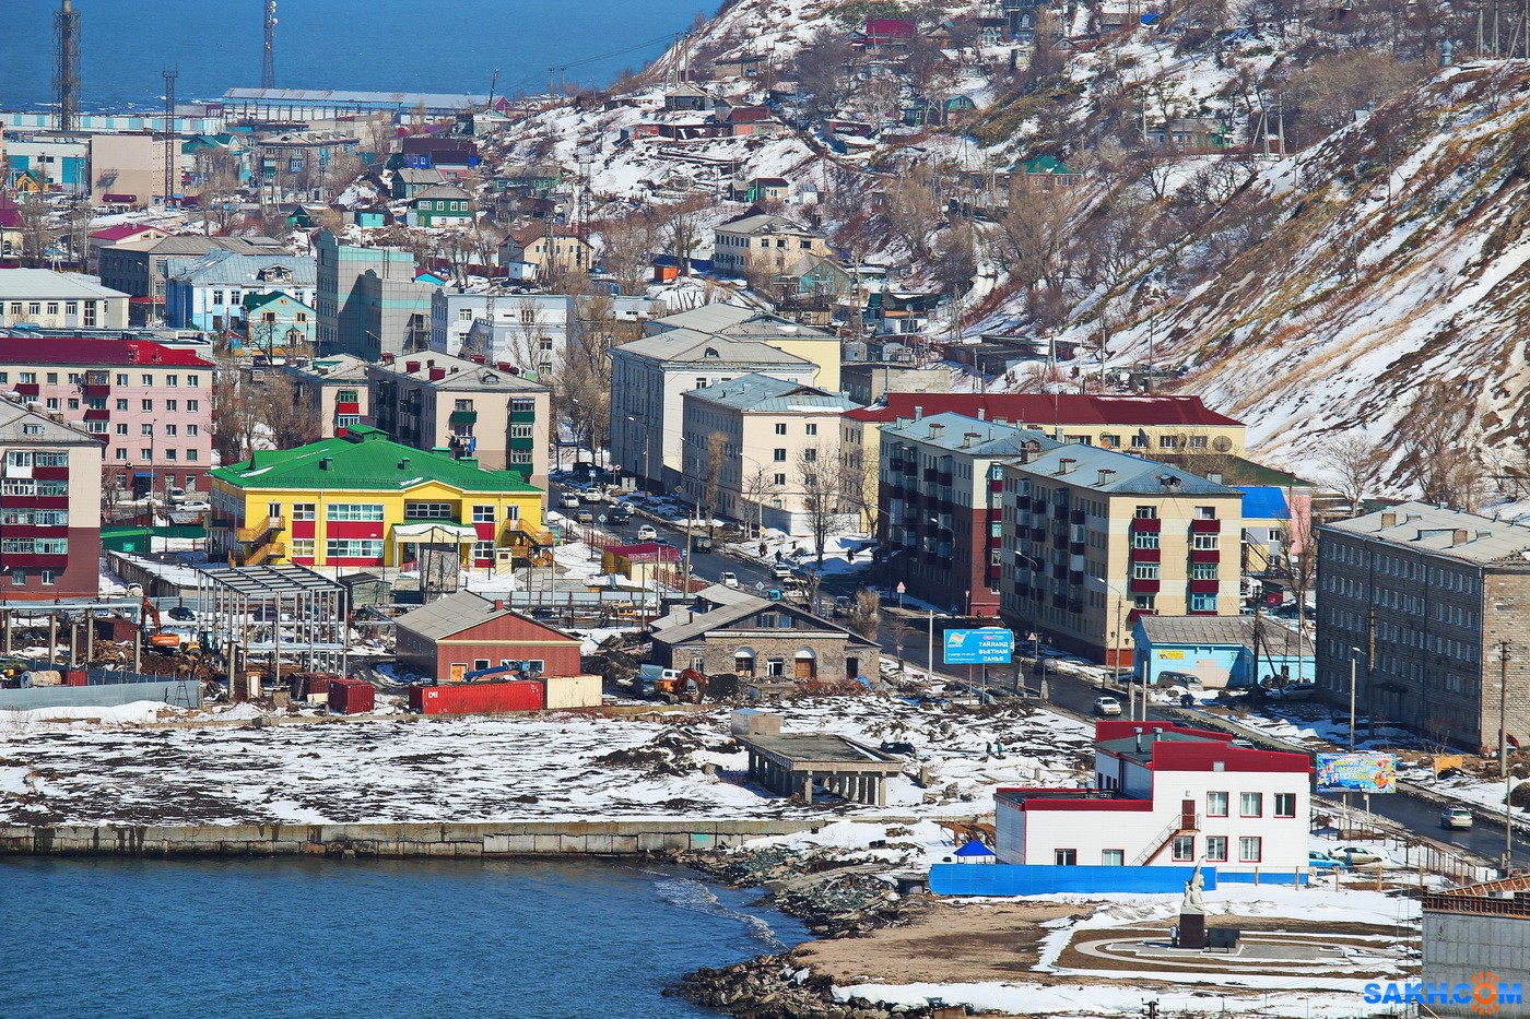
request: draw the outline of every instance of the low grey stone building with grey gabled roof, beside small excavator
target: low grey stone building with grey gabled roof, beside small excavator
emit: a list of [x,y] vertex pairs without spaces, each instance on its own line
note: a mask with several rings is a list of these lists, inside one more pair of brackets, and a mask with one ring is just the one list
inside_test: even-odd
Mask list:
[[653,658],[708,676],[835,682],[877,670],[872,641],[785,601],[722,584],[653,621]]

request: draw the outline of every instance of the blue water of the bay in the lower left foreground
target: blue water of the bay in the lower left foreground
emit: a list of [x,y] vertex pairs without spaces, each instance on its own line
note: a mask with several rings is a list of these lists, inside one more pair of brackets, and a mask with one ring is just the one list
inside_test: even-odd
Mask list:
[[711,1016],[659,991],[806,938],[597,861],[5,860],[0,1014]]

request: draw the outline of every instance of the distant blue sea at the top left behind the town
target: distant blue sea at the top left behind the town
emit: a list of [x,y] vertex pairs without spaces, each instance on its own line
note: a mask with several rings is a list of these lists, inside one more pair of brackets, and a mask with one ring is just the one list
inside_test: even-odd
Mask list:
[[[277,0],[277,86],[382,92],[548,87],[548,67],[606,84],[658,57],[719,0]],[[0,0],[0,109],[52,98],[58,0]],[[181,101],[257,87],[260,0],[75,0],[81,15],[81,106],[158,109],[174,67]],[[618,52],[626,50],[626,52]]]

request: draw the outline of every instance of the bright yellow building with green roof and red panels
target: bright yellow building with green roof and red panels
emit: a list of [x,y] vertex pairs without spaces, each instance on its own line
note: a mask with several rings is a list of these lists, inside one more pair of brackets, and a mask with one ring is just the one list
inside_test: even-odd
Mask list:
[[464,566],[508,566],[552,546],[542,490],[473,457],[389,441],[378,428],[259,450],[210,474],[213,554],[237,566],[398,566],[456,546]]

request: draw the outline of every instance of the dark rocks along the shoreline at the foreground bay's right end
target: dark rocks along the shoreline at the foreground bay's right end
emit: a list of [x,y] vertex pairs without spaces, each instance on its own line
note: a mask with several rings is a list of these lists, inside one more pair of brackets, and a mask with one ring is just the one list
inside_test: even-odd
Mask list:
[[[887,866],[771,846],[734,854],[682,854],[679,861],[733,887],[760,887],[770,904],[819,938],[854,938],[894,926],[912,907],[877,877]],[[666,993],[748,1019],[923,1019],[929,1007],[834,999],[834,982],[814,975],[794,952],[762,955],[719,969],[701,967]]]

